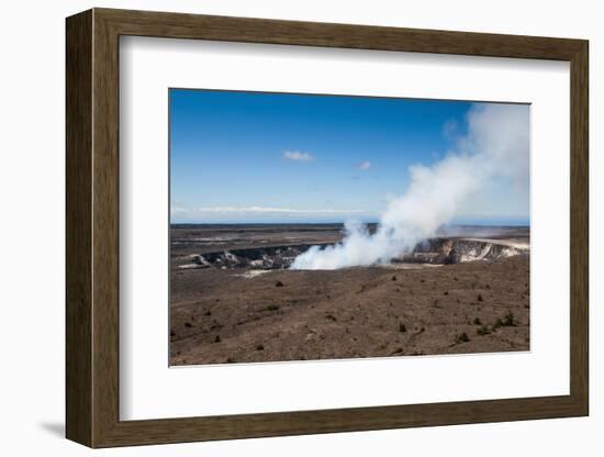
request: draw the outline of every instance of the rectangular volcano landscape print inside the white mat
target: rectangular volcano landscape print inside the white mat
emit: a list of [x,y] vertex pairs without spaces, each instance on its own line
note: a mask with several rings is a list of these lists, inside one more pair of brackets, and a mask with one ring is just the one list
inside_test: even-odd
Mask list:
[[529,111],[170,89],[170,365],[528,350]]

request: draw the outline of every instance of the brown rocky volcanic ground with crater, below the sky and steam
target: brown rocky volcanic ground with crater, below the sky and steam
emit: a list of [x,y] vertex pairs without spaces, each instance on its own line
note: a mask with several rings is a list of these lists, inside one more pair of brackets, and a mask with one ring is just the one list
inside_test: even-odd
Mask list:
[[529,348],[527,228],[441,233],[379,267],[288,269],[340,228],[172,227],[170,364]]

